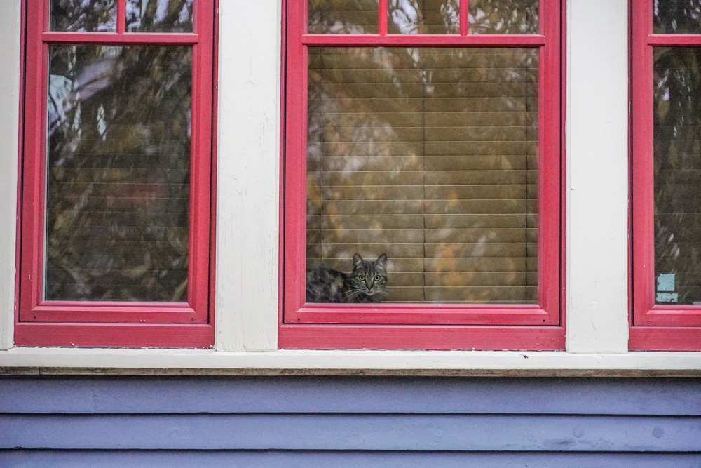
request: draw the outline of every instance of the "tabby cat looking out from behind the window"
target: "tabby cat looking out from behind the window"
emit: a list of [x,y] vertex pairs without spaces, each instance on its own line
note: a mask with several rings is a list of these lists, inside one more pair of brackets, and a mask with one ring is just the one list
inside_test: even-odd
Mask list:
[[353,271],[310,268],[306,272],[306,302],[378,302],[387,286],[387,255],[363,260],[353,254]]

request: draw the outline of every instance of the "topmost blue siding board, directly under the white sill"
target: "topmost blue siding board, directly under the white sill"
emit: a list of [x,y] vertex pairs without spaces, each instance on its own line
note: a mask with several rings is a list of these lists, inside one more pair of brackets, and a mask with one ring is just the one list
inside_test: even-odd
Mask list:
[[699,379],[0,379],[0,413],[701,415]]

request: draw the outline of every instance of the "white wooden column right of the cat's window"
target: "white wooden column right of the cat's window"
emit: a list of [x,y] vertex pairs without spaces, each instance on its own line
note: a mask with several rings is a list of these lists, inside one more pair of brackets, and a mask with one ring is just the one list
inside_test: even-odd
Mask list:
[[567,11],[568,352],[628,347],[628,1]]

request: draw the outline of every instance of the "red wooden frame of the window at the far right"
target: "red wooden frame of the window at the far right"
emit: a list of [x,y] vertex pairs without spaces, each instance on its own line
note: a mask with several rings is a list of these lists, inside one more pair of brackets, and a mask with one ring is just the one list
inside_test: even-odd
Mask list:
[[701,34],[653,34],[653,2],[632,1],[632,311],[630,349],[701,350],[701,306],[655,304],[653,50]]

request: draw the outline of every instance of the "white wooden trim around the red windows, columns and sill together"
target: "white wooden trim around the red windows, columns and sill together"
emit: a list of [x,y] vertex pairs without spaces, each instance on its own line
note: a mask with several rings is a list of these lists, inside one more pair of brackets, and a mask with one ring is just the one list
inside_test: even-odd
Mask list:
[[627,0],[567,1],[566,352],[277,349],[280,0],[219,4],[215,350],[13,349],[21,1],[0,2],[0,62],[9,65],[0,74],[0,173],[9,178],[0,184],[0,368],[553,375],[701,368],[701,352],[627,352]]

